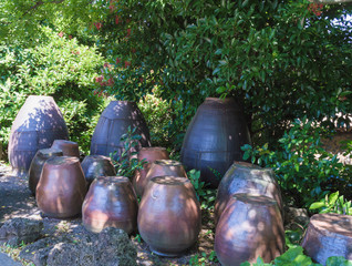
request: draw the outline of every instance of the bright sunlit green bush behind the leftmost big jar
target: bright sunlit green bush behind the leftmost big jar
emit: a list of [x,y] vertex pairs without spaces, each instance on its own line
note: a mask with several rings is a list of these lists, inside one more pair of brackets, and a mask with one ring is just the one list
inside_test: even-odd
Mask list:
[[104,106],[103,98],[92,90],[103,58],[94,47],[81,45],[50,29],[45,32],[48,40],[31,49],[0,45],[0,141],[6,149],[11,124],[28,95],[52,95],[71,139],[86,153]]

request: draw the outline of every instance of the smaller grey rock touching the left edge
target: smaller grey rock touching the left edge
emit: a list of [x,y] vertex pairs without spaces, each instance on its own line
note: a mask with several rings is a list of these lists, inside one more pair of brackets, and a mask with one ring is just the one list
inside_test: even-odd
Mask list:
[[0,244],[18,246],[42,236],[43,222],[28,218],[12,218],[0,227]]

